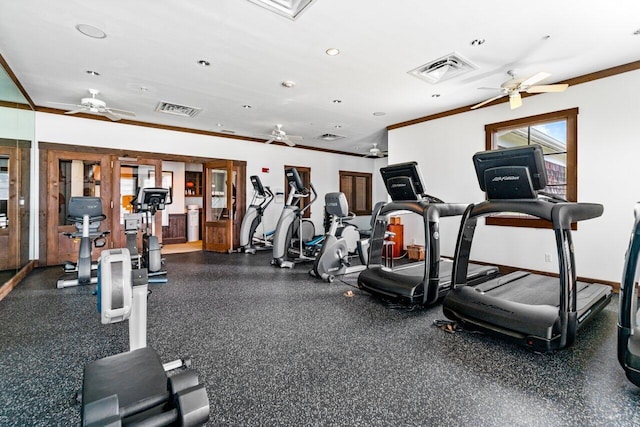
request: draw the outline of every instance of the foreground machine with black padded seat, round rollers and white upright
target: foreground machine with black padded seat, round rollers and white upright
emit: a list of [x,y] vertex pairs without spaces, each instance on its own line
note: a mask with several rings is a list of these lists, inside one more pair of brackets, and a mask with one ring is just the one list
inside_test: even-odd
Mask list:
[[[98,311],[103,324],[129,320],[129,351],[84,367],[83,426],[195,426],[209,419],[209,399],[189,359],[162,364],[147,347],[146,269],[131,268],[126,248],[100,257]],[[175,371],[180,369],[179,371]],[[168,371],[175,371],[167,376]]]

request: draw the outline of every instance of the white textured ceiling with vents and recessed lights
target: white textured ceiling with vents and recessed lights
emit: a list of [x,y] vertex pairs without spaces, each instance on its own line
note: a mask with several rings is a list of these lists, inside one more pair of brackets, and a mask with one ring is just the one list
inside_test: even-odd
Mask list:
[[[71,110],[53,103],[94,88],[141,122],[264,139],[282,124],[299,145],[355,153],[384,148],[389,125],[498,94],[479,88],[508,70],[554,83],[640,59],[637,0],[315,0],[295,21],[247,0],[0,0],[0,20],[0,54],[37,106]],[[438,84],[408,74],[454,52],[477,69]],[[202,110],[163,114],[160,101]]]

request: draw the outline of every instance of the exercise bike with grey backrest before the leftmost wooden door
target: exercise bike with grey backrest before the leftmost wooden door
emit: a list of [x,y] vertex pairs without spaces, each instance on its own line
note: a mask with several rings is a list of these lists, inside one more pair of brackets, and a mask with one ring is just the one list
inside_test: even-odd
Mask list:
[[96,270],[97,263],[91,261],[91,248],[101,248],[105,245],[105,237],[109,231],[100,231],[100,221],[107,217],[102,211],[102,199],[100,197],[71,197],[67,221],[73,222],[76,231],[64,233],[70,239],[80,239],[78,247],[77,262],[67,261],[64,263],[64,273],[76,273],[75,278],[60,278],[57,282],[58,288],[68,288],[71,286],[95,284],[97,278],[92,276],[91,271]]

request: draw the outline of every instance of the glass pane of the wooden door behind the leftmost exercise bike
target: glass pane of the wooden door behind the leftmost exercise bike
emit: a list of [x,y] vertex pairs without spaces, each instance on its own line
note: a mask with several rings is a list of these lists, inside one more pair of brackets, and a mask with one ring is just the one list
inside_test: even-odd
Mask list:
[[100,162],[60,160],[58,183],[58,225],[65,225],[71,197],[100,197]]

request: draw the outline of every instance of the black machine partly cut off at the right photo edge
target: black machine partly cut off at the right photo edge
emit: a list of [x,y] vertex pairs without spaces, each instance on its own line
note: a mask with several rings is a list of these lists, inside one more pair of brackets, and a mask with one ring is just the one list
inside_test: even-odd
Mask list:
[[640,387],[640,330],[638,316],[638,260],[640,257],[640,203],[634,210],[635,222],[625,256],[618,313],[618,362],[629,381]]

